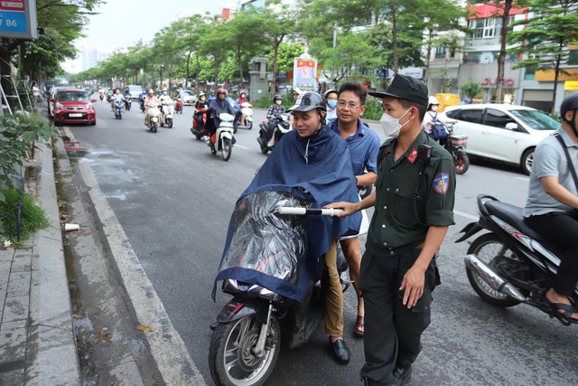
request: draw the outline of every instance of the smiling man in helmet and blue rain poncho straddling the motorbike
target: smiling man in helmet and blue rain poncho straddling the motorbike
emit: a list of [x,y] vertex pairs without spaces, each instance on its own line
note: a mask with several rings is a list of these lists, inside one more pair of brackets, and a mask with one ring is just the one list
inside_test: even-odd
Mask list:
[[[294,117],[294,130],[289,131],[275,146],[259,169],[246,193],[270,185],[290,185],[312,194],[314,206],[321,208],[334,197],[357,200],[355,176],[350,151],[345,141],[325,124],[327,113],[322,96],[306,92],[289,108]],[[245,193],[244,193],[245,194]],[[343,341],[343,293],[337,270],[337,240],[344,234],[359,232],[360,214],[338,221],[329,216],[308,219],[314,235],[314,249],[325,254],[329,272],[325,306],[325,333],[340,363],[350,362],[350,351]]]

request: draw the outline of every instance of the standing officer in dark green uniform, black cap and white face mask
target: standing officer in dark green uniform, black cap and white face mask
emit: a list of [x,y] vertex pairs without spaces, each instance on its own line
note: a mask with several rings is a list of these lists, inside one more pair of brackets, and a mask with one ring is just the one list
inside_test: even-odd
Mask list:
[[385,92],[369,94],[382,99],[380,123],[391,137],[379,148],[376,191],[327,207],[346,216],[375,206],[359,274],[366,358],[360,375],[367,385],[403,385],[430,324],[439,284],[433,258],[453,224],[455,174],[452,156],[422,130],[423,82],[396,75]]

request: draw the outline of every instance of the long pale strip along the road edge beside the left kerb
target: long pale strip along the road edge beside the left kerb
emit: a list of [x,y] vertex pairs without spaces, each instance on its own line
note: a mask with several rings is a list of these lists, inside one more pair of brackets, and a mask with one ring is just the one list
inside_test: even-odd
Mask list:
[[85,184],[89,187],[90,198],[95,204],[103,231],[107,234],[110,249],[128,297],[135,308],[138,322],[153,329],[152,332],[145,332],[144,336],[164,382],[168,385],[206,385],[136,257],[115,212],[100,190],[89,163],[81,162],[79,168]]

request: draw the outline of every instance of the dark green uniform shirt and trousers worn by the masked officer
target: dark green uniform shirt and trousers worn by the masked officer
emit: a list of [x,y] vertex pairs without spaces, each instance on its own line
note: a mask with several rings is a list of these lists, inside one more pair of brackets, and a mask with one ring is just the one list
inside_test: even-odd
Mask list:
[[[417,160],[420,145],[432,146],[422,176]],[[421,334],[430,323],[432,291],[439,278],[434,261],[425,272],[424,295],[411,309],[402,304],[404,291],[399,290],[404,275],[419,256],[428,227],[454,223],[452,156],[424,131],[399,159],[395,159],[395,146],[392,139],[379,149],[375,212],[359,275],[365,300],[366,364],[361,376],[381,382],[393,381],[396,367],[415,361]]]

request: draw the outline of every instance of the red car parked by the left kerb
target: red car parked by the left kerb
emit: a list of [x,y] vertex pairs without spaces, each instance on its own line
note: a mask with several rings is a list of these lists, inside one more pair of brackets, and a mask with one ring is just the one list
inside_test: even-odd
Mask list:
[[97,124],[97,113],[90,99],[89,93],[82,89],[59,89],[51,99],[54,103],[54,125],[61,126],[70,123]]

